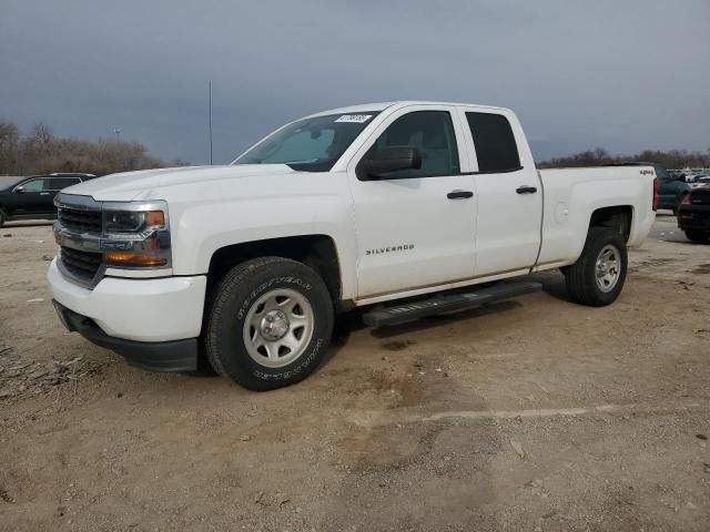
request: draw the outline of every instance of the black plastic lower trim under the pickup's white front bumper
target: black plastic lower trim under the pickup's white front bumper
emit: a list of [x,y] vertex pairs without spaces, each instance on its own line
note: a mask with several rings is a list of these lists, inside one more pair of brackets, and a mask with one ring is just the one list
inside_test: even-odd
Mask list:
[[77,314],[52,300],[59,318],[70,332],[122,356],[128,364],[148,371],[195,371],[197,339],[135,341],[106,335],[91,318]]

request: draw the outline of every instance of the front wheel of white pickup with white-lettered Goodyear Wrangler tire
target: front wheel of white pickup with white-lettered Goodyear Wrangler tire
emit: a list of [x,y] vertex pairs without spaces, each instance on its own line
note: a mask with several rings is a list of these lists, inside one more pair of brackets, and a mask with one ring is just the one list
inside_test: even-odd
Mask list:
[[203,341],[214,370],[254,391],[293,385],[325,357],[333,303],[308,266],[281,257],[247,260],[207,301]]

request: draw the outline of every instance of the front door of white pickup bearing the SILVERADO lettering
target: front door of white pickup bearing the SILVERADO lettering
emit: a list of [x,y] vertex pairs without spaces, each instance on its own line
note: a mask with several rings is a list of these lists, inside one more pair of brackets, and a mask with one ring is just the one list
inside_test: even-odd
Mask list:
[[[460,124],[445,105],[413,105],[379,125],[348,167],[357,235],[358,298],[474,275],[474,177],[460,172]],[[414,146],[422,167],[368,178],[372,151]]]

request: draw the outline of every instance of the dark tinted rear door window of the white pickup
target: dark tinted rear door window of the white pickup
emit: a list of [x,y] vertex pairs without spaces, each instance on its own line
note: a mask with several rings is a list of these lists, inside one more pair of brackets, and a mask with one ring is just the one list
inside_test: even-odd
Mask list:
[[508,172],[520,167],[510,123],[501,114],[466,113],[479,172]]

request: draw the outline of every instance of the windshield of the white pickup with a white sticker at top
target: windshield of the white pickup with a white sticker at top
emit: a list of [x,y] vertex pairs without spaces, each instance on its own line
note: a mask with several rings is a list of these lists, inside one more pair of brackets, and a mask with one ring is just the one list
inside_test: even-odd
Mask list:
[[232,164],[287,164],[304,172],[327,172],[377,113],[298,120],[272,133]]

